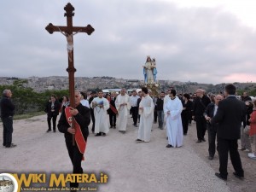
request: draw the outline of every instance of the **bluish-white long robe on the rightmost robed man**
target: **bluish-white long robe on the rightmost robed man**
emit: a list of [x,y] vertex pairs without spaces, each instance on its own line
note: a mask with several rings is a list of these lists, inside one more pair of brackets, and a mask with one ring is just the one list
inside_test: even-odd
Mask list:
[[[171,114],[167,114],[167,111],[170,111]],[[164,108],[168,144],[172,145],[173,148],[178,148],[183,145],[182,111],[183,104],[177,96],[175,99],[169,100]]]

